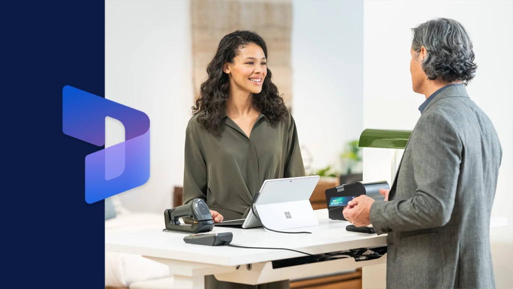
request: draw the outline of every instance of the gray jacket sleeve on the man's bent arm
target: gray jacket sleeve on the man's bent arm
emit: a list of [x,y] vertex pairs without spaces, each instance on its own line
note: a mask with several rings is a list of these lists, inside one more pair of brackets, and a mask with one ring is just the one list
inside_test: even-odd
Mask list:
[[378,234],[440,227],[450,220],[462,161],[461,139],[443,113],[425,115],[412,137],[417,190],[406,200],[372,204],[370,222]]

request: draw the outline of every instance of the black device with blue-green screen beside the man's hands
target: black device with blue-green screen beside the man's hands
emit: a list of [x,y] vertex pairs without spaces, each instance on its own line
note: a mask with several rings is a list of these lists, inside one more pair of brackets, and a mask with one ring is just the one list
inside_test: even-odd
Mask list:
[[347,203],[357,196],[367,195],[376,201],[385,200],[385,196],[380,194],[380,189],[390,189],[386,180],[356,182],[327,189],[325,194],[329,219],[347,221],[342,211]]

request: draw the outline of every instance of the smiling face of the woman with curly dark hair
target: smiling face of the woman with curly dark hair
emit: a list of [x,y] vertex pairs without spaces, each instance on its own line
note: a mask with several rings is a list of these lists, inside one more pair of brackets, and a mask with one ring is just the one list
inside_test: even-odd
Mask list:
[[230,78],[230,86],[259,94],[267,74],[264,50],[257,44],[248,44],[239,49],[233,63],[226,63],[223,70]]

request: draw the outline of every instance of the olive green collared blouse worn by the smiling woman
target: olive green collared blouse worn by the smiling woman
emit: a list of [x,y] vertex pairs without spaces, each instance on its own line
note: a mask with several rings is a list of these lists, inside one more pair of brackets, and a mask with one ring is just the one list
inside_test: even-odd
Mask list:
[[214,135],[193,116],[185,136],[183,203],[203,198],[224,220],[245,218],[266,179],[305,175],[293,117],[275,121],[260,114],[249,138],[227,115]]

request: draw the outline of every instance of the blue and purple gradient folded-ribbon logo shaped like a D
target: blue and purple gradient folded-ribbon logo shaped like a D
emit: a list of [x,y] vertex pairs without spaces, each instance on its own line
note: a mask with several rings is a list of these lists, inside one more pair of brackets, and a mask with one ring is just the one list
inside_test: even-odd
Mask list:
[[126,105],[66,85],[63,88],[63,132],[105,146],[105,118],[125,126],[125,141],[85,158],[86,202],[104,200],[142,186],[150,178],[150,119]]

